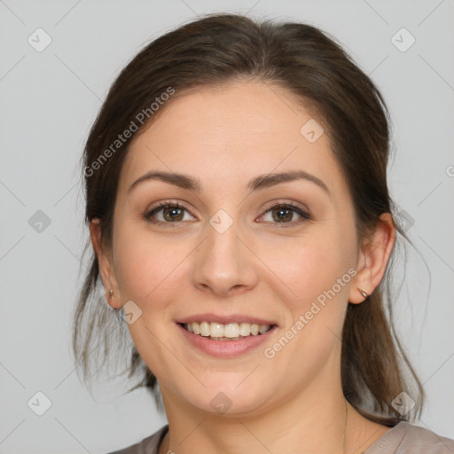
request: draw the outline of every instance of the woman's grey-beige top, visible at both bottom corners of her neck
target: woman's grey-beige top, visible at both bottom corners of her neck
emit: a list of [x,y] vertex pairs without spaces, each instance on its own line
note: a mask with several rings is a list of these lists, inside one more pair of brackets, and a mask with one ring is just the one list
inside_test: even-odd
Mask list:
[[[158,454],[160,442],[168,432],[168,425],[123,450],[110,454]],[[424,427],[401,421],[374,442],[362,454],[454,454],[454,440],[434,434]]]

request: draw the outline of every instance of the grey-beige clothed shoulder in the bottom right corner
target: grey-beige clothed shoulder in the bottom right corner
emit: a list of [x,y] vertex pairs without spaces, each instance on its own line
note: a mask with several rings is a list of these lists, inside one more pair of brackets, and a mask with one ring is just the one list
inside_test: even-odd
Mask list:
[[452,454],[454,440],[424,427],[401,421],[372,444],[364,454]]

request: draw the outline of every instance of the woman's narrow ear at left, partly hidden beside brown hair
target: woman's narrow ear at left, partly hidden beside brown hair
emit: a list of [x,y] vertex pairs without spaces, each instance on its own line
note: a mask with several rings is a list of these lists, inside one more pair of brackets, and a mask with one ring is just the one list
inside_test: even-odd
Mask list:
[[[114,308],[121,309],[120,291],[114,272],[111,250],[103,247],[101,224],[99,219],[92,219],[89,224],[91,246],[98,257],[99,274],[104,286],[106,301]],[[111,294],[110,291],[114,293]]]

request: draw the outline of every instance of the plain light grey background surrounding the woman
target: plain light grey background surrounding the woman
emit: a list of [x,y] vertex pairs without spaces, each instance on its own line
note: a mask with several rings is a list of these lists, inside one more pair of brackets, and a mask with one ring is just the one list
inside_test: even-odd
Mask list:
[[[392,195],[414,220],[397,325],[427,392],[420,426],[454,438],[454,3],[0,1],[0,451],[102,453],[164,419],[124,383],[90,395],[74,372],[69,322],[82,245],[79,159],[106,90],[151,39],[199,13],[248,12],[322,27],[382,90],[395,126]],[[27,43],[42,27],[51,44]],[[391,38],[416,38],[400,51]],[[397,39],[403,43],[408,35]],[[36,39],[36,38],[35,38]],[[41,41],[43,43],[43,41]],[[402,44],[401,44],[402,45]],[[28,220],[51,219],[41,232]],[[408,219],[410,219],[407,216]],[[86,264],[82,264],[83,267]],[[36,416],[37,391],[51,408]]]

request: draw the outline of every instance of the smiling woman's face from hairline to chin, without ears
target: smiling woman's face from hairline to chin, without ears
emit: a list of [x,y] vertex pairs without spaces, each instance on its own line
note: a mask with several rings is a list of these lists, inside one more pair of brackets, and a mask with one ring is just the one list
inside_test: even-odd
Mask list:
[[[165,402],[192,409],[258,413],[308,389],[315,400],[340,383],[345,310],[362,300],[354,209],[327,135],[261,82],[164,107],[121,170],[108,259],[140,356]],[[190,322],[245,338],[212,340]]]

